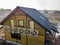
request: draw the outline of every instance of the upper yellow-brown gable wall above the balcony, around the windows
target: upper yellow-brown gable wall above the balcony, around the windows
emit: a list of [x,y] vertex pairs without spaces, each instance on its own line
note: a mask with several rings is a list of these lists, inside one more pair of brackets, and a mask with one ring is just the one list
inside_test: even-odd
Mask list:
[[[34,28],[39,31],[41,35],[45,35],[45,29],[39,25],[35,20],[33,20],[31,17],[29,17],[25,12],[22,10],[16,10],[13,14],[9,16],[7,20],[5,20],[4,25],[10,26],[10,20],[14,20],[14,25],[17,27],[18,25],[18,20],[24,20],[24,28],[29,28],[29,21],[34,21],[35,25]],[[42,33],[41,33],[42,32]]]

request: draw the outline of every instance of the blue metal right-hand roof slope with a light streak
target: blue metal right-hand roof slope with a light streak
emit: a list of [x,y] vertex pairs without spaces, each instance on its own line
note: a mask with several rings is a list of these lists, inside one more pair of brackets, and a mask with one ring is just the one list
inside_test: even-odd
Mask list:
[[42,25],[47,31],[50,31],[50,23],[47,17],[45,17],[42,13],[40,13],[36,9],[26,8],[26,7],[19,7],[19,9],[23,10],[25,13],[28,14],[31,18],[33,18],[36,22]]

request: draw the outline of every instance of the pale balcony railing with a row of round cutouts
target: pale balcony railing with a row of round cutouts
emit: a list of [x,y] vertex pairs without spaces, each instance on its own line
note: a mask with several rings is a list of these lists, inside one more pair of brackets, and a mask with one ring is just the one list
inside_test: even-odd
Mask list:
[[10,32],[10,33],[18,33],[18,34],[24,34],[24,35],[29,35],[29,36],[33,36],[33,37],[38,37],[38,30],[36,30],[36,29],[4,26],[4,31]]

